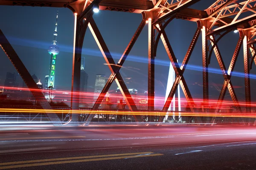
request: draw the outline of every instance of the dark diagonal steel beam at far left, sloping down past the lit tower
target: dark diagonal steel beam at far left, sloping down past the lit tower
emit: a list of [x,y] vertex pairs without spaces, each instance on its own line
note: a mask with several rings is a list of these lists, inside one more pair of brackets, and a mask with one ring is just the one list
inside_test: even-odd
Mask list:
[[[17,72],[20,74],[20,77],[23,79],[23,81],[26,83],[27,87],[35,96],[36,101],[39,102],[41,105],[41,108],[44,110],[51,110],[52,107],[47,102],[47,100],[44,97],[44,94],[41,89],[38,88],[36,85],[36,82],[29,74],[29,71],[26,69],[23,62],[20,60],[19,56],[15,52],[15,50],[12,48],[12,45],[7,40],[3,32],[0,30],[0,46],[7,55],[7,57],[10,59],[14,67],[16,68]],[[50,121],[53,123],[53,125],[61,125],[61,120],[59,119],[58,115],[55,113],[47,113],[47,116],[49,117]]]

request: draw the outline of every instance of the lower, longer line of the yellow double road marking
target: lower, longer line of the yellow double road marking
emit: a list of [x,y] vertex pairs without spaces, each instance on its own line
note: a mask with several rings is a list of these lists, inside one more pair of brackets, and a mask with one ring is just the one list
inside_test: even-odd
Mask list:
[[148,156],[162,156],[163,154],[156,153],[150,155],[137,155],[137,156],[118,156],[118,157],[108,157],[108,158],[95,158],[95,159],[81,159],[81,160],[72,160],[72,161],[56,161],[56,162],[44,162],[36,164],[20,164],[20,165],[11,165],[0,167],[1,170],[9,168],[19,168],[19,167],[34,167],[42,165],[52,165],[52,164],[67,164],[67,163],[78,163],[78,162],[88,162],[88,161],[104,161],[104,160],[113,160],[113,159],[125,159],[125,158],[139,158],[139,157],[148,157]]

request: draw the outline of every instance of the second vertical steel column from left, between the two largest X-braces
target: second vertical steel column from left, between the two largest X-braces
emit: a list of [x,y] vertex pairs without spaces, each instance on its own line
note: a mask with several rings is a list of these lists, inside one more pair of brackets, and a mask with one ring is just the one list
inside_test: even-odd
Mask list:
[[154,111],[154,26],[148,19],[148,111]]

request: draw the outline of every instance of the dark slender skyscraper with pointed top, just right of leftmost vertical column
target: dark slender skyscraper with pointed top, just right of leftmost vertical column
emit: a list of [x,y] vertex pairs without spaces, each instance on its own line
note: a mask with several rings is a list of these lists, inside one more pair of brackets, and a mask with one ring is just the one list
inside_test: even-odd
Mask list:
[[84,70],[84,57],[81,58],[81,75],[80,75],[80,107],[84,107],[86,102],[86,95],[84,93],[87,92],[87,82],[88,82],[88,74]]

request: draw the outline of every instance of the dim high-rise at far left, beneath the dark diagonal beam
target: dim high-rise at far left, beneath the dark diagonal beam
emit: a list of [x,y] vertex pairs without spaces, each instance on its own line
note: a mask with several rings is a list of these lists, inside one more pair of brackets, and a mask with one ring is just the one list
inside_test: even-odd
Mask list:
[[10,72],[6,73],[6,79],[4,82],[4,87],[5,87],[4,94],[7,96],[7,98],[10,98],[10,97],[15,98],[15,95],[14,95],[15,91],[16,91],[15,88],[18,88],[18,86],[19,86],[19,83],[16,81],[16,76],[17,76],[17,74],[15,72],[14,73],[10,73]]

